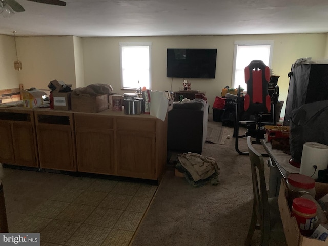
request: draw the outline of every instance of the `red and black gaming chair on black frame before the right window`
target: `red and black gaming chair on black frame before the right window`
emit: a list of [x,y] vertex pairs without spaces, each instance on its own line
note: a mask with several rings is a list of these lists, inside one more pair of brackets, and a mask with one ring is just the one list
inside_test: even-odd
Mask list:
[[[240,86],[238,88],[236,120],[234,128],[234,137],[236,138],[236,151],[239,154],[248,154],[238,148],[238,139],[250,135],[256,138],[255,143],[260,144],[260,139],[264,138],[265,130],[261,130],[262,116],[271,115],[272,120],[265,122],[265,125],[275,125],[274,104],[268,93],[268,84],[270,81],[270,69],[261,60],[253,60],[245,67],[245,82],[247,85],[247,94],[240,97]],[[241,101],[243,100],[243,101]],[[241,103],[243,102],[244,120],[240,120]],[[247,126],[247,132],[239,136],[239,124]]]

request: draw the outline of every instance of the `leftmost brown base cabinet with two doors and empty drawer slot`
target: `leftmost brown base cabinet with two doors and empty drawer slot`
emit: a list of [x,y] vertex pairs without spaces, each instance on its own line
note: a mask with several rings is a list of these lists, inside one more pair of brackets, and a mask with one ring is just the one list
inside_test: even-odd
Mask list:
[[32,110],[0,109],[0,162],[39,167]]

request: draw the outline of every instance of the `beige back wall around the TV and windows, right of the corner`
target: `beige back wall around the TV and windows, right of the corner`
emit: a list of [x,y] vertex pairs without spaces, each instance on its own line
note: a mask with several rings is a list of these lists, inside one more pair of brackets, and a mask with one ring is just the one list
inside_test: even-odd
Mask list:
[[[176,91],[182,78],[166,77],[167,48],[217,48],[215,79],[188,79],[193,90],[206,92],[210,107],[224,86],[231,86],[234,42],[237,40],[274,40],[271,69],[279,75],[280,100],[286,100],[291,65],[302,57],[322,59],[327,34],[234,35],[234,36],[168,36],[168,37],[103,37],[83,38],[85,84],[108,83],[116,93],[120,90],[119,42],[152,42],[152,89]],[[142,86],[142,85],[141,85]],[[284,105],[285,106],[285,105]],[[284,115],[284,108],[282,116]],[[210,110],[212,112],[212,110]]]

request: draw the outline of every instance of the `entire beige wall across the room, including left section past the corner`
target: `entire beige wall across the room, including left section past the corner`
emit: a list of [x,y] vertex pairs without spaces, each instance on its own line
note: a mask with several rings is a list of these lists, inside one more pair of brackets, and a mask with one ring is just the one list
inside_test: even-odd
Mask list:
[[[119,42],[152,42],[152,89],[177,91],[182,79],[166,77],[167,48],[217,48],[215,79],[189,79],[191,88],[206,92],[210,107],[224,86],[231,86],[234,42],[237,40],[274,40],[271,69],[280,75],[280,100],[286,100],[291,65],[302,57],[327,57],[327,34],[271,34],[231,36],[165,36],[165,37],[18,37],[18,58],[22,71],[13,69],[15,60],[13,38],[0,35],[0,73],[6,78],[2,88],[46,89],[49,81],[63,80],[73,88],[93,83],[106,83],[115,93],[120,89]],[[8,49],[9,47],[9,49]],[[8,58],[9,57],[9,58]],[[4,75],[5,74],[5,75]],[[18,76],[18,81],[17,81]],[[171,88],[172,83],[172,88]],[[142,86],[142,85],[141,85]],[[210,110],[212,112],[212,110]],[[282,110],[284,115],[284,107]]]

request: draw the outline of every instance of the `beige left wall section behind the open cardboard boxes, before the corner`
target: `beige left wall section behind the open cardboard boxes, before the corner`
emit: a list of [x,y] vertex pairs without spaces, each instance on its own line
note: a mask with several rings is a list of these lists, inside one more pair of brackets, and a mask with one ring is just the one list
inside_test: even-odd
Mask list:
[[75,88],[73,36],[18,37],[17,48],[23,63],[18,78],[24,89],[48,89],[54,79]]

